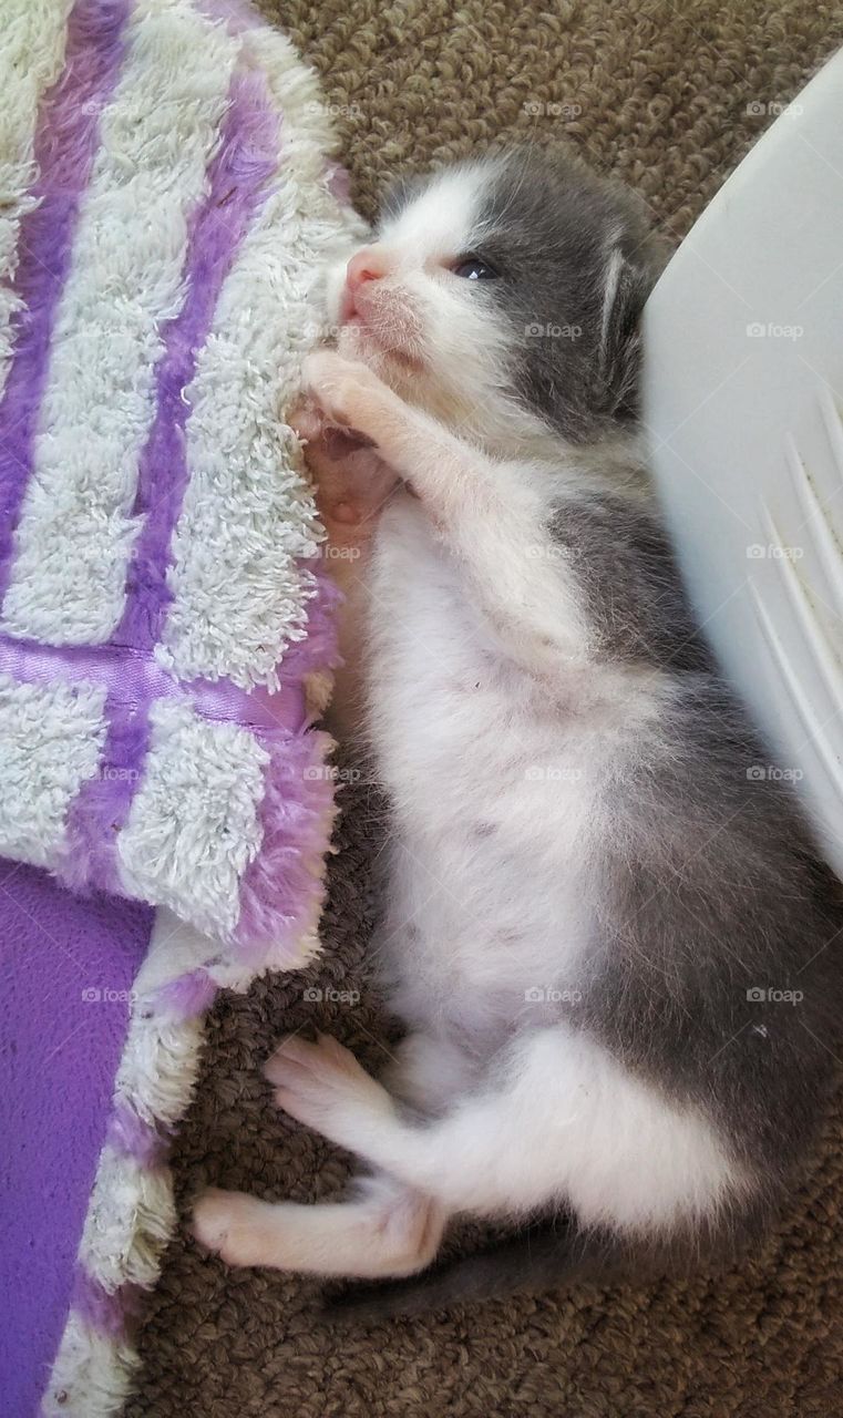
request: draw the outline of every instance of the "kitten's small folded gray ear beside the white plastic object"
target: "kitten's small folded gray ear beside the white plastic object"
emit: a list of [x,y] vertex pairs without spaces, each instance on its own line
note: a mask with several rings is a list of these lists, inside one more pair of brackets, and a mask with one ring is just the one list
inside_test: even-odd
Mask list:
[[667,259],[659,238],[621,240],[606,255],[601,328],[601,381],[606,413],[635,418],[640,367],[640,316]]

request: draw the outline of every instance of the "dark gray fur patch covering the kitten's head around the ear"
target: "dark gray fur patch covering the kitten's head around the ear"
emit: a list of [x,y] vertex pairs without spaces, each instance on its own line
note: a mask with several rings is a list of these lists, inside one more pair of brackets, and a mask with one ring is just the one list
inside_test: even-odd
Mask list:
[[628,423],[660,268],[632,194],[562,153],[516,150],[490,164],[475,254],[499,272],[483,298],[511,330],[519,398],[574,442]]

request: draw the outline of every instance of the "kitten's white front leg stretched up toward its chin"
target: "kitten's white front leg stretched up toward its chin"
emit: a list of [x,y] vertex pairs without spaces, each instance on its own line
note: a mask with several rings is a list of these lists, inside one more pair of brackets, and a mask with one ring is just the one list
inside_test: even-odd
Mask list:
[[545,476],[460,442],[366,364],[324,350],[309,357],[305,374],[330,417],[371,438],[418,493],[509,654],[541,675],[584,665],[592,654],[591,631],[579,588],[548,530]]

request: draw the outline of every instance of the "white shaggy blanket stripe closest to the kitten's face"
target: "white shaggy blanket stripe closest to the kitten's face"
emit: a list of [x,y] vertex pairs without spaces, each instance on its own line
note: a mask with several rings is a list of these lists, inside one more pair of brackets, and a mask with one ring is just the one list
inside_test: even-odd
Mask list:
[[228,675],[248,689],[275,686],[281,647],[300,638],[313,591],[295,560],[315,553],[322,527],[282,414],[320,335],[326,264],[363,225],[320,180],[332,139],[313,77],[269,31],[247,31],[244,50],[283,112],[276,191],[224,282],[188,391],[190,481],[157,655],[186,679]]

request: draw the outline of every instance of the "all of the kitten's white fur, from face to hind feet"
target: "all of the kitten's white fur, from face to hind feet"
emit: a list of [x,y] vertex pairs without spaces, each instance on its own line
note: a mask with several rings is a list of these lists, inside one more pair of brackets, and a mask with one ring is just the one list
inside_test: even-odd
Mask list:
[[[398,1184],[387,1231],[421,1191],[436,1225],[571,1207],[582,1225],[664,1239],[717,1219],[751,1178],[701,1107],[577,1028],[577,987],[605,949],[589,875],[605,786],[670,683],[601,658],[548,523],[633,444],[584,454],[490,398],[500,330],[452,269],[477,190],[470,170],[439,179],[384,230],[377,279],[350,292],[361,329],[306,366],[327,421],[408,485],[380,518],[361,607],[366,732],[390,800],[377,964],[411,1031],[394,1082],[426,1119],[407,1120],[333,1039],[290,1038],[266,1072],[281,1107]],[[548,990],[568,991],[568,1017],[543,1008]],[[319,1273],[404,1275],[408,1248],[417,1269],[429,1259],[395,1222],[384,1272],[371,1217],[339,1211],[329,1248],[289,1205],[214,1195],[197,1222],[234,1263],[255,1263],[258,1232],[271,1263]]]

